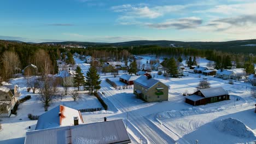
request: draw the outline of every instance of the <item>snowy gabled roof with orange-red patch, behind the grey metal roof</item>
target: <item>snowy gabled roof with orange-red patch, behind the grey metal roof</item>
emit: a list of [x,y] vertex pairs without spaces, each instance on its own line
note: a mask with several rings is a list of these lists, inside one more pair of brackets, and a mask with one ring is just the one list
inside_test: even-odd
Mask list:
[[[61,112],[61,116],[59,113]],[[78,117],[78,123],[83,124],[83,117],[78,110],[59,105],[39,116],[36,130],[48,129],[60,126],[74,125],[74,117]]]

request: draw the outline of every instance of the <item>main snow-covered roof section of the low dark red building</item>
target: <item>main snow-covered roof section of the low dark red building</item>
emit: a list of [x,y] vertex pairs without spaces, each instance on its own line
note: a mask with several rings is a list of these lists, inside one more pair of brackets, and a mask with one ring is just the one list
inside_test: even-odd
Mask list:
[[199,91],[206,97],[206,98],[211,98],[211,97],[216,97],[219,95],[226,95],[229,94],[228,92],[225,91],[222,87],[214,87],[214,88],[206,88],[206,89],[199,89]]

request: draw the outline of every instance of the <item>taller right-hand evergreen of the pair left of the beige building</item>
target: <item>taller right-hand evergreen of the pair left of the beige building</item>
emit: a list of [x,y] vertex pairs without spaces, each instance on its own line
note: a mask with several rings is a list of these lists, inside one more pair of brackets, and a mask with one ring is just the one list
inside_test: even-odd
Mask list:
[[84,88],[90,91],[91,94],[94,92],[95,89],[98,90],[101,88],[100,75],[97,74],[97,69],[95,67],[90,67],[85,77],[86,77],[86,82],[85,82]]

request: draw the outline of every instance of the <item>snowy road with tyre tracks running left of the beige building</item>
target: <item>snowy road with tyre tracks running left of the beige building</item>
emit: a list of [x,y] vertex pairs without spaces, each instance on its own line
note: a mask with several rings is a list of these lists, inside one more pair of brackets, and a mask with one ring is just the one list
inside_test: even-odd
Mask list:
[[[116,107],[122,112],[127,112],[127,105],[115,97],[115,91],[110,88],[106,81],[102,81],[101,91],[105,93],[107,97]],[[147,143],[175,143],[170,136],[166,135],[162,130],[152,124],[149,119],[144,116],[141,116],[135,111],[129,111],[128,121],[133,127],[135,127],[143,137],[147,140]]]

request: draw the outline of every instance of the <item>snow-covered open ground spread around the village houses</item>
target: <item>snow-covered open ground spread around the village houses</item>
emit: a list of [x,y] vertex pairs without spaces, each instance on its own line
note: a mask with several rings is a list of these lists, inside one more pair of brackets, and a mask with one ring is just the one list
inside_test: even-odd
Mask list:
[[[150,58],[143,57],[143,59]],[[89,65],[76,58],[75,62],[86,74]],[[207,59],[199,59],[199,62],[202,66],[208,63]],[[192,106],[184,103],[185,98],[182,94],[193,93],[203,76],[199,77],[199,74],[185,71],[188,76],[166,79],[156,73],[157,71],[152,72],[155,74],[155,79],[170,86],[168,101],[146,103],[136,99],[132,88],[114,89],[105,81],[108,78],[117,85],[124,85],[118,81],[119,77],[101,74],[100,92],[105,93],[102,97],[108,104],[109,110],[83,112],[85,123],[100,122],[104,117],[108,120],[124,119],[132,143],[195,143],[195,140],[198,140],[198,143],[249,143],[256,140],[256,113],[254,113],[256,99],[251,97],[251,85],[240,81],[230,85],[229,80],[207,76],[211,87],[223,87],[229,92],[230,100]],[[123,73],[119,73],[119,76],[121,74]],[[21,87],[21,97],[27,95],[26,82],[24,82],[21,78],[11,81]],[[29,94],[33,95],[32,92]],[[237,98],[240,100],[237,101]],[[101,106],[94,97],[88,95],[84,95],[77,102],[68,97],[55,101],[50,109],[59,104],[74,109],[82,106]],[[23,143],[26,131],[34,130],[37,123],[28,119],[27,114],[40,115],[44,109],[42,103],[36,97],[32,97],[19,105],[17,112],[17,116],[1,118],[3,130],[0,131],[0,143]],[[20,118],[22,120],[19,120]],[[31,129],[28,129],[31,125]]]

